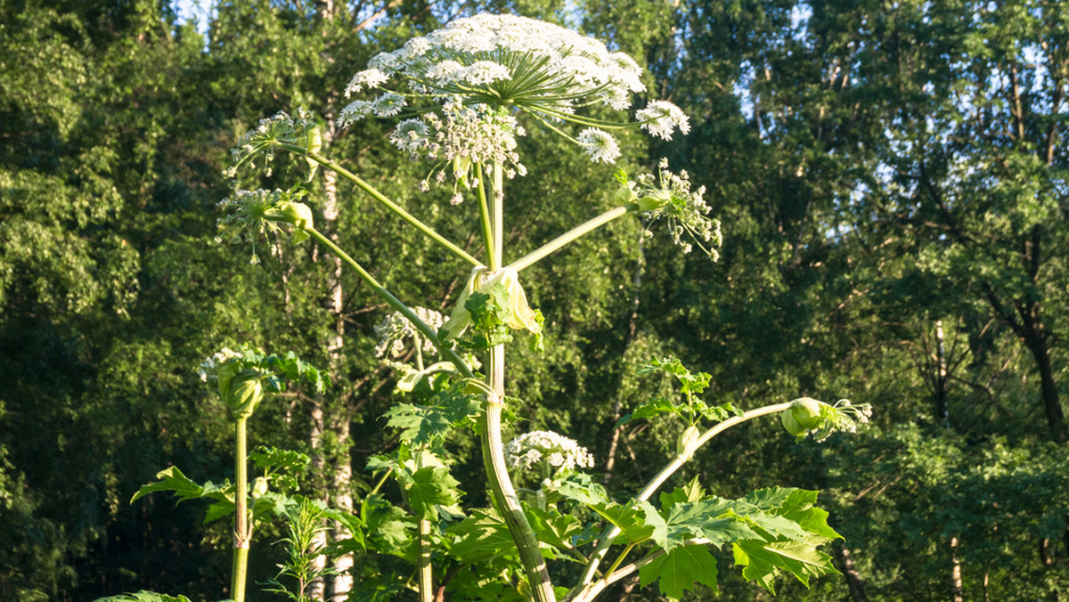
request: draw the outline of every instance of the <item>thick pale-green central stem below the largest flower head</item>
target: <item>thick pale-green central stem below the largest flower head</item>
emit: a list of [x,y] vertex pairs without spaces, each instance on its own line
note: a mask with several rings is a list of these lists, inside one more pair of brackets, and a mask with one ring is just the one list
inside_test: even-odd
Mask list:
[[[480,170],[482,167],[480,166]],[[491,215],[492,235],[486,236],[494,243],[491,272],[500,269],[502,250],[503,209],[501,166],[494,165],[493,179],[493,212]],[[485,227],[485,226],[484,226]],[[531,529],[527,515],[520,505],[520,498],[509,478],[509,469],[505,464],[505,444],[501,442],[501,411],[505,406],[505,345],[496,345],[490,350],[486,362],[486,384],[492,393],[486,400],[482,417],[482,459],[490,481],[491,490],[497,506],[509,526],[509,532],[520,552],[520,561],[524,566],[531,596],[537,602],[555,602],[553,583],[545,560],[539,552],[538,539]]]

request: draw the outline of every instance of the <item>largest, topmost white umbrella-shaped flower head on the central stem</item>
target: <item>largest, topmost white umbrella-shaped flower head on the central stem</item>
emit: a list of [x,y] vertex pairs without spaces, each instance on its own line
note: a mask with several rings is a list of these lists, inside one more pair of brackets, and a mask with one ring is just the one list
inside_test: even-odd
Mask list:
[[[646,91],[641,76],[631,57],[591,37],[526,17],[483,14],[454,20],[373,58],[367,71],[353,77],[345,95],[368,89],[381,90],[381,95],[354,101],[341,122],[386,114],[410,118],[401,122],[407,124],[403,132],[390,137],[398,148],[430,159],[497,163],[523,175],[514,149],[524,130],[514,118],[525,112],[583,146],[591,160],[613,163],[620,149],[606,129],[642,127],[665,139],[676,129],[690,130],[686,115],[664,101],[650,103],[631,123],[579,114],[592,105],[628,109],[632,95]],[[418,122],[425,132],[413,126]],[[560,128],[562,122],[585,129],[573,138]],[[458,148],[460,137],[482,148]],[[446,140],[453,146],[447,148]],[[453,170],[459,179],[467,177],[467,168],[459,167]]]

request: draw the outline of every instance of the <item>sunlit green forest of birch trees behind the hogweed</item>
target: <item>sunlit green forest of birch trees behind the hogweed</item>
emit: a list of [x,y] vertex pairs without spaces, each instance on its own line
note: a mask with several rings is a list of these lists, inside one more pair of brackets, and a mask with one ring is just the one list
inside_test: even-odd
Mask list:
[[[635,57],[693,129],[624,137],[621,165],[667,155],[724,222],[717,263],[619,222],[531,268],[547,351],[510,365],[524,428],[570,434],[631,491],[676,438],[614,431],[656,393],[635,377],[651,357],[710,372],[717,403],[871,403],[871,428],[820,445],[748,423],[678,479],[821,492],[843,575],[784,578],[785,600],[1069,596],[1069,3],[258,0],[214,2],[198,28],[166,1],[0,0],[0,600],[222,596],[227,526],[201,525],[197,503],[128,500],[170,464],[232,474],[226,410],[197,375],[226,345],[331,367],[327,393],[260,411],[257,443],[312,456],[306,491],[332,504],[368,491],[368,458],[397,441],[381,419],[393,374],[372,353],[387,310],[314,245],[216,242],[227,152],[306,107],[348,169],[463,234],[472,207],[419,192],[388,124],[332,117],[374,53],[478,12]],[[514,244],[610,206],[610,169],[522,143],[542,152],[510,189]],[[343,183],[310,190],[317,223],[400,297],[452,306],[464,283],[434,266],[454,260]],[[386,262],[425,279],[392,281]],[[456,470],[478,483],[468,446]],[[253,581],[277,572],[279,537],[259,536]],[[761,598],[719,559],[717,599]],[[654,599],[636,585],[613,596]]]

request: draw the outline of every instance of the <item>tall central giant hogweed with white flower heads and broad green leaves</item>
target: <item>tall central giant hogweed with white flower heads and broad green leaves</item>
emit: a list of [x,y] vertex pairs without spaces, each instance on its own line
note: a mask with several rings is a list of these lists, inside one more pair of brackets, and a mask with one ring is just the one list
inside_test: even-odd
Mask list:
[[[697,479],[671,492],[661,488],[698,448],[733,426],[779,414],[790,434],[822,438],[853,431],[855,422],[866,421],[867,405],[809,398],[748,411],[710,405],[702,399],[709,374],[691,372],[676,359],[654,359],[641,373],[670,374],[679,398],[639,403],[621,422],[675,416],[685,428],[675,457],[629,499],[611,497],[583,472],[593,458],[577,442],[544,431],[502,441],[502,421],[523,404],[506,388],[506,350],[517,336],[532,349],[542,344],[542,315],[527,302],[525,268],[625,216],[645,218],[650,229],[664,222],[682,252],[697,247],[712,260],[717,257],[719,222],[707,216],[703,188],[693,189],[685,172],[673,173],[662,160],[655,173],[607,176],[615,209],[507,261],[506,181],[520,186],[527,172],[517,137],[527,127],[546,128],[582,148],[597,168],[619,157],[614,136],[619,132],[641,129],[665,140],[688,132],[687,117],[667,102],[650,102],[630,117],[632,97],[641,92],[641,72],[626,55],[554,25],[507,15],[455,20],[378,55],[353,77],[345,89],[352,102],[341,122],[397,120],[390,142],[413,160],[425,161],[421,188],[448,186],[453,204],[477,204],[482,259],[328,158],[316,119],[304,110],[263,120],[234,149],[233,176],[248,169],[269,172],[276,156],[289,153],[307,163],[309,179],[321,168],[334,171],[470,265],[466,285],[445,317],[396,297],[316,230],[301,185],[238,189],[221,203],[228,214],[220,226],[233,235],[288,230],[296,243],[311,238],[393,310],[377,328],[376,353],[398,371],[397,391],[404,401],[386,418],[400,430],[401,444],[369,463],[378,484],[345,521],[353,539],[335,550],[397,556],[412,570],[372,575],[357,586],[358,599],[385,600],[413,589],[428,602],[441,596],[586,601],[636,573],[644,586],[656,583],[664,596],[680,598],[698,583],[716,587],[718,569],[710,550],[721,546],[730,547],[746,580],[770,591],[781,573],[808,585],[811,577],[836,572],[819,547],[839,535],[815,506],[816,492],[771,488],[726,499]],[[598,114],[623,117],[591,117],[594,106],[601,107]],[[647,235],[652,233],[647,230]],[[412,360],[398,360],[403,357]],[[463,429],[481,442],[491,508],[465,508],[464,492],[450,474],[447,437]],[[389,479],[400,488],[401,506],[379,493]],[[574,562],[579,569],[567,572],[579,576],[562,584],[547,560],[555,567]]]

